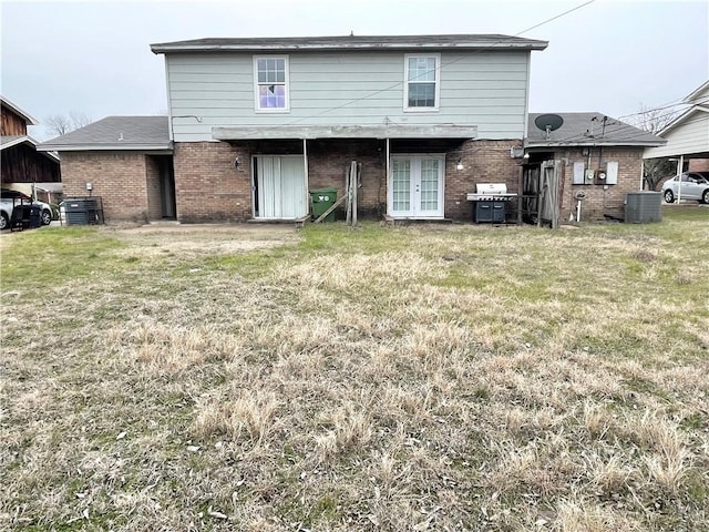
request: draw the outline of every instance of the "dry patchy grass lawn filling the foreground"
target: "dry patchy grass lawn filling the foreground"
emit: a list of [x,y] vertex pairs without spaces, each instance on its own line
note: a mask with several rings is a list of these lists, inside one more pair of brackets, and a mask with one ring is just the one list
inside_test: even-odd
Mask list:
[[0,529],[707,530],[706,207],[0,249]]

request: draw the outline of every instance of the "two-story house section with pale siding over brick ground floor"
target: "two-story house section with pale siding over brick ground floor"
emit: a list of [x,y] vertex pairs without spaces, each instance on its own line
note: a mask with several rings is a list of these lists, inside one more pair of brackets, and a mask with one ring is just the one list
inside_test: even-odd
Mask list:
[[544,41],[506,35],[198,39],[165,55],[177,218],[297,219],[308,190],[360,212],[467,218],[481,181],[517,186],[530,63]]

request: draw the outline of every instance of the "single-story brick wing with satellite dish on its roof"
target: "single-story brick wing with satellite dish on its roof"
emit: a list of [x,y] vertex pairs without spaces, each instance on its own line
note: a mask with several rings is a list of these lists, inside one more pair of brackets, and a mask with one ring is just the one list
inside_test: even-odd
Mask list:
[[666,141],[602,113],[556,114],[563,125],[548,135],[535,124],[542,114],[530,114],[525,168],[562,161],[562,221],[575,214],[578,193],[585,196],[582,219],[621,219],[626,194],[643,186],[644,150]]

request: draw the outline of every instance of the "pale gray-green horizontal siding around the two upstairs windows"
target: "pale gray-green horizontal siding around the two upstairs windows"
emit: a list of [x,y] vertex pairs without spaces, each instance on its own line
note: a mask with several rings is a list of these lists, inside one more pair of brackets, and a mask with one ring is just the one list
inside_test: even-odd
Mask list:
[[214,126],[387,122],[476,125],[480,139],[522,139],[528,53],[442,53],[436,112],[403,110],[402,52],[290,53],[288,113],[255,111],[250,53],[168,54],[175,141],[212,140]]

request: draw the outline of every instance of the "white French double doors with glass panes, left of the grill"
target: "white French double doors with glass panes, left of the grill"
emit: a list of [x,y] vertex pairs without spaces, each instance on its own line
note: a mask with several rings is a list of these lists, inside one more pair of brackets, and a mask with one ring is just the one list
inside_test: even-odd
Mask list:
[[393,217],[443,217],[443,155],[393,155],[388,209]]

